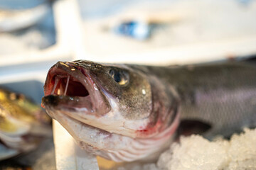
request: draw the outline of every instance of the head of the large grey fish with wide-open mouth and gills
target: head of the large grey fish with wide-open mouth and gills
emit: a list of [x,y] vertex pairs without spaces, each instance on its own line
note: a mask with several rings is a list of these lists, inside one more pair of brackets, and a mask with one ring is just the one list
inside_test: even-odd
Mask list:
[[156,113],[161,103],[154,102],[159,91],[152,91],[142,70],[127,64],[57,62],[48,72],[44,92],[42,106],[80,147],[116,162],[146,157],[178,125],[178,116],[175,125],[164,123],[168,109]]

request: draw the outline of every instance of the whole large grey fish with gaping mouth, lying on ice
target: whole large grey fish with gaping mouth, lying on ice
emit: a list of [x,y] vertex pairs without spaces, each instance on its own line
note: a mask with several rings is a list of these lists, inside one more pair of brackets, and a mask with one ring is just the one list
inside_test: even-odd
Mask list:
[[209,139],[256,125],[252,62],[168,67],[57,62],[48,71],[44,94],[48,115],[82,149],[114,162],[153,159],[176,140],[179,125],[189,124],[188,130]]

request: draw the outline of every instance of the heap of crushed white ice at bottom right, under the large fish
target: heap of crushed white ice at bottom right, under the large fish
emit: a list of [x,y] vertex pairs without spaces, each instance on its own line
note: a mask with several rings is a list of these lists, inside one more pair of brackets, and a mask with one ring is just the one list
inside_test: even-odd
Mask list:
[[200,135],[181,137],[161,154],[159,169],[256,169],[256,129],[210,142]]

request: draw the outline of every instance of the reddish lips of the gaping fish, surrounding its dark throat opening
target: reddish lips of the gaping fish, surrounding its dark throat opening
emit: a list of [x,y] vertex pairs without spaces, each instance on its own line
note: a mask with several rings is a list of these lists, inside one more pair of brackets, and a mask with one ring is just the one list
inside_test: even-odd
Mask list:
[[[87,90],[88,95],[68,96],[63,93],[55,94],[55,80],[63,78],[68,78],[70,81],[76,81],[82,84]],[[52,106],[58,109],[72,111],[82,110],[85,113],[105,115],[110,111],[110,103],[100,88],[102,86],[97,86],[95,79],[90,74],[90,70],[78,66],[73,62],[57,62],[48,72],[44,85],[45,96],[42,98],[42,106],[46,108]]]

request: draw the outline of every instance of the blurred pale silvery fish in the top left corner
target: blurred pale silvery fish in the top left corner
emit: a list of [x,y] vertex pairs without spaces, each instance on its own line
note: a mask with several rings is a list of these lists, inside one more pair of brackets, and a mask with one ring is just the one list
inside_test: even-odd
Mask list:
[[50,6],[41,4],[28,9],[0,9],[0,33],[33,26],[46,16]]

